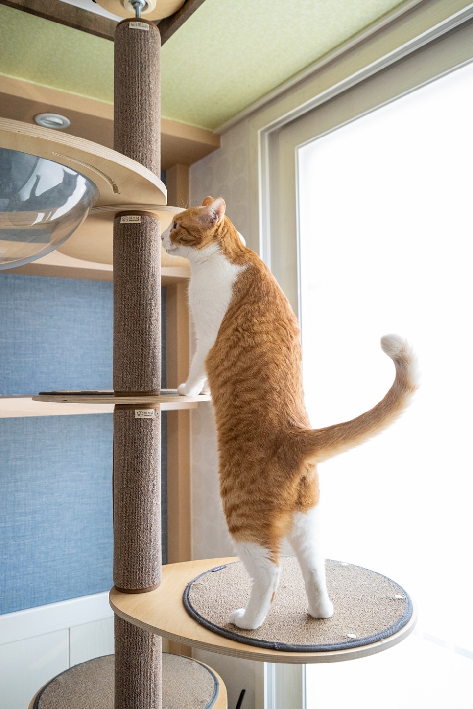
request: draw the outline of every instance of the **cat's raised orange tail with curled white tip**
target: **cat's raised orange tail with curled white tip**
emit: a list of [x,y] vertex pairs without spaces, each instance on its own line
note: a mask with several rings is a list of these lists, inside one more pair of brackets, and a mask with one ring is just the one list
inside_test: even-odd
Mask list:
[[418,388],[416,355],[399,335],[384,335],[381,346],[396,367],[391,389],[382,401],[357,418],[326,428],[294,431],[299,439],[298,452],[304,459],[321,462],[360,445],[387,428],[408,406]]

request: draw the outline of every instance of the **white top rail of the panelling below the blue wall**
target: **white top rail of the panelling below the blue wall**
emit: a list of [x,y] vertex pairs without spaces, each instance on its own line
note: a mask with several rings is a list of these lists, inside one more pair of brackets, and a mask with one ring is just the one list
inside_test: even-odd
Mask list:
[[92,623],[111,615],[113,611],[108,604],[108,591],[17,610],[16,613],[4,613],[0,615],[0,645],[74,625]]

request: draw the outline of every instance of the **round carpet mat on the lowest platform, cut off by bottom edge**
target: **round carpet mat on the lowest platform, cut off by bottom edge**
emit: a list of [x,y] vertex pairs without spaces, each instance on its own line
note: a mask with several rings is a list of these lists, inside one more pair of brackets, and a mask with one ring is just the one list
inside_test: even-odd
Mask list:
[[[48,682],[32,709],[113,709],[113,684],[113,655],[96,657]],[[218,679],[208,667],[163,652],[162,709],[210,709],[218,689]]]

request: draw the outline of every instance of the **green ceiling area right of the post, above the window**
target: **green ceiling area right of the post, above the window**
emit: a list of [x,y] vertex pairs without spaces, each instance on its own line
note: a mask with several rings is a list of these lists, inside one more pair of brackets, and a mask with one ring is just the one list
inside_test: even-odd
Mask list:
[[216,128],[399,0],[206,0],[162,48],[168,118]]

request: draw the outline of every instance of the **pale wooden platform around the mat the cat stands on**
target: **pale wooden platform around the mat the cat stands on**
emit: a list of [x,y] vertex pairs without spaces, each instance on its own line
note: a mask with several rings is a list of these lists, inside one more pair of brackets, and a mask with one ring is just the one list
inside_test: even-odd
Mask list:
[[[393,632],[389,637],[383,637],[357,647],[318,649],[317,652],[291,652],[287,649],[256,647],[239,642],[233,637],[222,637],[191,618],[184,608],[182,597],[188,584],[194,581],[197,576],[214,567],[233,562],[238,562],[238,559],[204,559],[163,566],[162,582],[159,588],[148,593],[121,593],[116,588],[112,588],[110,593],[111,607],[115,613],[124,620],[128,620],[129,623],[138,625],[149,632],[155,632],[157,635],[169,637],[171,640],[234,657],[287,664],[336,662],[382,652],[382,650],[404,640],[416,625],[416,609],[413,607],[411,617],[406,625]],[[332,601],[336,608],[338,599],[333,597]],[[301,609],[301,613],[307,615],[306,606]],[[345,613],[350,613],[350,611],[345,609]],[[330,622],[330,619],[322,622]],[[289,627],[290,630],[291,627]],[[350,632],[350,630],[347,629],[346,632]],[[284,645],[284,637],[280,637],[279,640]]]

